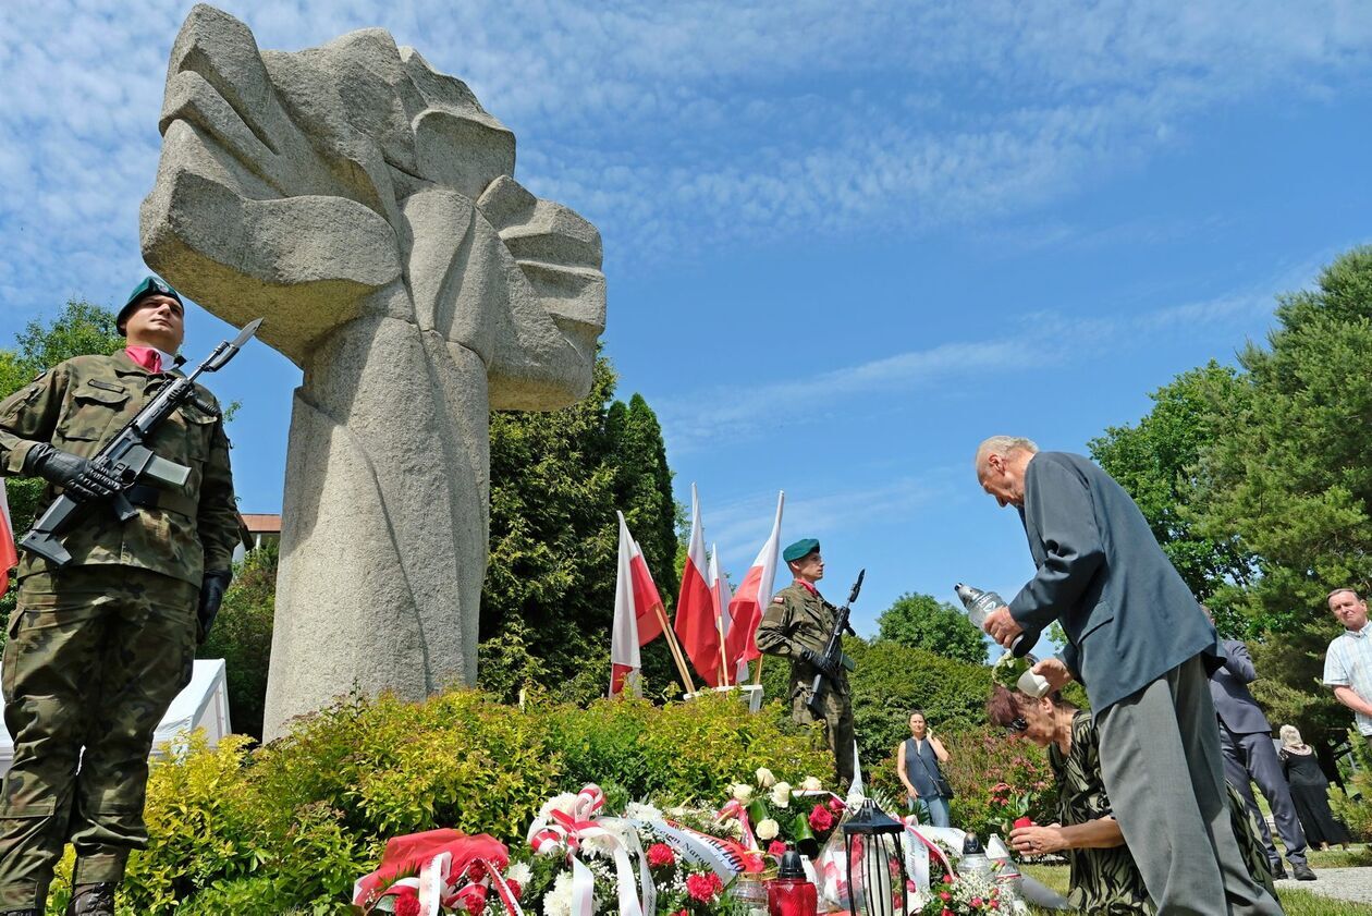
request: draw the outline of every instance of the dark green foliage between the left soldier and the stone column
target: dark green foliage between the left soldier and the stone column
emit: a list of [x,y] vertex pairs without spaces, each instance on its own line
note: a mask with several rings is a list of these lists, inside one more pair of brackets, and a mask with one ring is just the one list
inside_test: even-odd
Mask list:
[[276,617],[279,549],[269,541],[250,551],[233,571],[233,584],[196,658],[222,658],[229,688],[229,722],[240,735],[262,737],[272,623]]

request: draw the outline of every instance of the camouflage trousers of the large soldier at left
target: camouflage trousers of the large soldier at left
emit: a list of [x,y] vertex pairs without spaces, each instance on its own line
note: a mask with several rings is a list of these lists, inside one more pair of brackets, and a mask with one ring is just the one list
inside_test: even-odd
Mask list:
[[196,586],[126,566],[19,582],[4,647],[14,764],[0,792],[0,912],[43,912],[70,840],[75,882],[119,882],[147,845],[152,733],[191,681]]

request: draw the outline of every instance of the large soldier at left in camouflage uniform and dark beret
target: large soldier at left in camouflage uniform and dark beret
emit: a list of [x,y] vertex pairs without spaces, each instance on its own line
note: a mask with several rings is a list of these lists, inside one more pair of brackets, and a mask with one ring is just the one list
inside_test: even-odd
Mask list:
[[92,503],[63,540],[67,564],[19,560],[3,659],[15,747],[0,792],[0,913],[41,913],[71,842],[69,916],[113,916],[129,850],[147,843],[154,729],[191,680],[239,537],[224,419],[200,386],[150,442],[191,468],[185,485],[134,486],[128,522],[103,501],[115,481],[89,459],[176,374],[181,299],[148,277],[118,327],[126,350],[67,360],[0,402],[0,474],[43,477],[48,497]]

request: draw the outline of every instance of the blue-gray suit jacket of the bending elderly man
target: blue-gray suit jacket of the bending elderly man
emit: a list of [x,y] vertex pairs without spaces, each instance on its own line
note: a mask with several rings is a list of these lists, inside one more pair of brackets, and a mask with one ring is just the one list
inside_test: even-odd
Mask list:
[[1040,452],[1019,511],[1039,571],[1010,602],[1030,633],[1054,621],[1063,661],[1099,713],[1199,652],[1224,650],[1143,512],[1109,474],[1066,452]]

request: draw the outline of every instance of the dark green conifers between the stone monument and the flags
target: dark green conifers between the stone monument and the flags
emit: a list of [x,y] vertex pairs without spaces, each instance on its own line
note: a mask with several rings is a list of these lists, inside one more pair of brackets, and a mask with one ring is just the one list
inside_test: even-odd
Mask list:
[[[597,360],[590,394],[549,413],[491,413],[490,562],[482,593],[483,687],[513,699],[550,685],[587,700],[609,685],[620,509],[664,602],[676,593],[675,503],[661,428],[642,397],[612,402]],[[650,689],[672,683],[663,640],[642,650]]]

